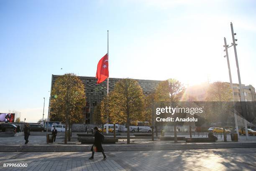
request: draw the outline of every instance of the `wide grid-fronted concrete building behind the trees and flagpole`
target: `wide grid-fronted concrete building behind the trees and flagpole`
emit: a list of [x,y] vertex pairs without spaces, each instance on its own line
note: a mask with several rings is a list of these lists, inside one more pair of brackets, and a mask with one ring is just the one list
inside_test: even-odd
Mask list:
[[[54,85],[54,82],[60,75],[52,75],[51,78],[51,91]],[[96,84],[97,78],[79,76],[79,78],[84,83],[85,94],[86,94],[86,107],[84,108],[84,123],[93,123],[93,111],[95,106],[100,103],[104,96],[107,95],[107,80],[100,84]],[[122,78],[109,78],[109,91],[113,91],[115,83],[121,80]],[[145,95],[153,93],[156,86],[160,80],[137,80],[143,93]]]

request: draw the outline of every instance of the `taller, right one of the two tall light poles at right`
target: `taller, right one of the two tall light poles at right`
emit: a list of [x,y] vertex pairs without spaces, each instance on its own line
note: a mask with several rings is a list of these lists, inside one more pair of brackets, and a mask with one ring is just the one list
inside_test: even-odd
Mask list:
[[[232,39],[233,39],[233,46],[234,46],[234,52],[235,52],[235,58],[236,58],[236,68],[237,68],[237,75],[238,75],[238,82],[239,82],[239,88],[240,88],[240,96],[241,96],[241,102],[243,103],[245,101],[244,99],[244,94],[243,94],[243,88],[241,85],[241,77],[240,77],[240,71],[239,71],[239,65],[238,65],[238,58],[237,58],[237,53],[236,53],[236,41],[237,39],[235,39],[235,35],[236,33],[234,33],[233,30],[233,24],[232,22],[230,23],[230,27],[231,27],[231,33],[232,33]],[[243,105],[243,104],[242,104]],[[246,132],[246,140],[248,140],[248,129],[247,129],[247,121],[244,118],[244,127],[245,127],[245,132]]]

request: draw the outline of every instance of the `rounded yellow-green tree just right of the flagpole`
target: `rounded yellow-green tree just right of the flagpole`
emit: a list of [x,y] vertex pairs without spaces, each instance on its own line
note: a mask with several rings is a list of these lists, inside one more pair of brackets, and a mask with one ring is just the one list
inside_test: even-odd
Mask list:
[[111,95],[111,108],[126,121],[127,143],[130,143],[130,124],[141,120],[144,110],[144,94],[136,80],[125,78],[115,84]]

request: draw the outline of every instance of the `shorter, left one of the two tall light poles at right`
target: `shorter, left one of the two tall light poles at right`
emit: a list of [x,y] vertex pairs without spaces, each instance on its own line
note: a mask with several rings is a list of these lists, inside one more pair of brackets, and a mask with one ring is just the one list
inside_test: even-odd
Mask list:
[[[229,65],[229,58],[228,58],[228,48],[233,46],[233,44],[231,46],[227,45],[226,38],[224,38],[224,43],[225,43],[225,45],[224,45],[225,50],[224,51],[226,52],[226,55],[224,56],[224,58],[227,57],[230,88],[232,89],[233,101],[235,101],[234,89],[233,89],[233,83],[232,83],[232,76],[231,76],[230,65]],[[239,129],[238,129],[236,110],[234,110],[234,118],[235,118],[235,124],[236,124],[236,133],[237,133],[237,136],[238,136],[238,139],[239,139]]]

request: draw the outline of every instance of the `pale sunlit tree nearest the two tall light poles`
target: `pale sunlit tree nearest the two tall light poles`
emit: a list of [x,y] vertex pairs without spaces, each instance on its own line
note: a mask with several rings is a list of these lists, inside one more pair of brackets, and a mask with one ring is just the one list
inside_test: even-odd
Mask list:
[[223,136],[225,142],[227,141],[225,124],[228,119],[228,113],[230,112],[230,105],[225,102],[232,100],[233,96],[230,85],[220,81],[212,83],[206,92],[206,101],[213,101],[215,102],[215,105],[217,105],[214,111],[208,110],[208,115],[214,118],[222,119]]

